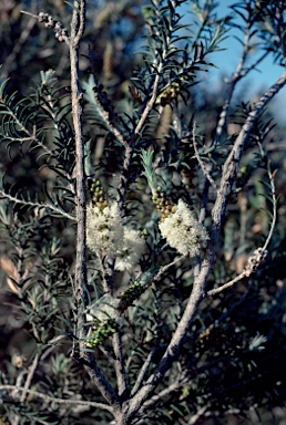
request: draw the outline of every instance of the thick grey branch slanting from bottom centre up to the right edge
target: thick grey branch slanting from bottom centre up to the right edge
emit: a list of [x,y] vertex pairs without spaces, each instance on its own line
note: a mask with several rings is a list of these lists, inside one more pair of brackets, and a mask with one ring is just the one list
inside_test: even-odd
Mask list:
[[249,113],[239,135],[237,136],[233,149],[228,155],[228,158],[226,159],[226,163],[223,168],[221,186],[217,191],[217,198],[212,211],[213,225],[211,243],[207,249],[205,259],[202,263],[201,271],[198,276],[195,277],[193,290],[190,296],[183,317],[177,324],[177,329],[175,330],[162,360],[160,361],[157,367],[151,374],[149,380],[144,383],[143,387],[130,401],[130,415],[134,415],[140,410],[142,403],[144,403],[150,397],[157,384],[164,377],[165,373],[170,370],[171,365],[173,364],[174,360],[178,354],[178,349],[183,343],[187,329],[191,322],[196,317],[198,305],[201,304],[204,298],[204,288],[207,282],[208,274],[215,261],[222,222],[228,201],[228,196],[232,191],[232,186],[237,175],[238,165],[243,154],[245,142],[258,114],[266,106],[266,104],[275,96],[275,94],[279,92],[279,90],[285,85],[285,83],[286,72],[269,90],[267,90],[267,92],[256,103],[254,110]]

